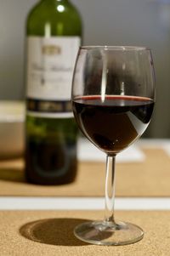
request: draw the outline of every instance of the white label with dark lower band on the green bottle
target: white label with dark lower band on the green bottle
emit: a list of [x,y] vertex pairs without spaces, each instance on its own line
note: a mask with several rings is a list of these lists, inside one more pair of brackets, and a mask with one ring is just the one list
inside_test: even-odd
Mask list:
[[27,38],[28,111],[71,111],[71,81],[80,37]]

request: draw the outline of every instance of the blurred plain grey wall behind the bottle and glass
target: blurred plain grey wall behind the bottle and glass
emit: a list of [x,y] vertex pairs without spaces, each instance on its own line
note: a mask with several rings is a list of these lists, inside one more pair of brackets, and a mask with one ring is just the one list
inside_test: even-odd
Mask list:
[[[152,49],[156,109],[145,136],[170,138],[170,0],[71,0],[82,14],[83,44]],[[24,99],[26,14],[37,0],[0,0],[0,100]]]

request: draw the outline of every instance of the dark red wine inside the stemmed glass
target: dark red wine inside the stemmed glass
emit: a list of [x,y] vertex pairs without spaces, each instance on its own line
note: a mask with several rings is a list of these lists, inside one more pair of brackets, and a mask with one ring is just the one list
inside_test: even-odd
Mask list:
[[131,96],[82,96],[73,111],[82,133],[101,150],[116,154],[147,128],[154,101]]

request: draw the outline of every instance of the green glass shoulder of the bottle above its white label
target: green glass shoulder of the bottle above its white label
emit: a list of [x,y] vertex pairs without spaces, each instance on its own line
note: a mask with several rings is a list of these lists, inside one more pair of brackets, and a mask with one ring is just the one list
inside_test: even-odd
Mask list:
[[72,4],[59,7],[43,2],[38,3],[27,16],[28,35],[43,35],[44,27],[50,26],[52,35],[82,35],[82,19]]

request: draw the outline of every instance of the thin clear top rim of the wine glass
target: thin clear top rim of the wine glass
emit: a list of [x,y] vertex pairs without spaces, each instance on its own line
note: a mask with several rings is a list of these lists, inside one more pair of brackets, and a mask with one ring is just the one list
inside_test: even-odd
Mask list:
[[103,49],[103,50],[149,50],[146,46],[111,46],[111,45],[82,45],[80,49]]

